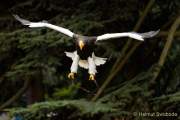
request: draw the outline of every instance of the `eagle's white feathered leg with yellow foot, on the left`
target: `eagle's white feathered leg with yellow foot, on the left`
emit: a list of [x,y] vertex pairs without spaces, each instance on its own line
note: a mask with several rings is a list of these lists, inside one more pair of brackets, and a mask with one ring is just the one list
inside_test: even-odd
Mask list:
[[71,72],[68,74],[68,78],[74,80],[75,74],[77,74],[79,64],[79,55],[75,54],[71,65]]

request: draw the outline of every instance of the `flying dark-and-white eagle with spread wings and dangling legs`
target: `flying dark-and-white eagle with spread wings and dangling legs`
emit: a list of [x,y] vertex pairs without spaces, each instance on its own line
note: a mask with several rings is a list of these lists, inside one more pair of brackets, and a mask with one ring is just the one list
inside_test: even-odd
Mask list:
[[100,36],[82,36],[79,34],[75,34],[70,30],[59,27],[56,25],[52,25],[48,22],[31,22],[29,20],[25,20],[20,18],[18,15],[13,15],[18,21],[20,21],[23,25],[27,25],[30,28],[36,27],[47,27],[60,33],[63,33],[66,36],[69,36],[75,40],[76,43],[76,51],[74,52],[65,52],[67,57],[72,59],[72,65],[70,68],[70,73],[68,74],[69,79],[74,79],[75,74],[77,74],[78,66],[88,69],[89,72],[89,80],[95,80],[95,75],[97,73],[96,66],[103,65],[106,63],[106,58],[101,58],[95,56],[93,50],[95,44],[98,41],[109,40],[112,38],[120,38],[120,37],[130,37],[139,41],[143,41],[144,38],[150,38],[155,36],[158,31],[150,31],[146,33],[136,33],[136,32],[123,32],[123,33],[107,33]]

